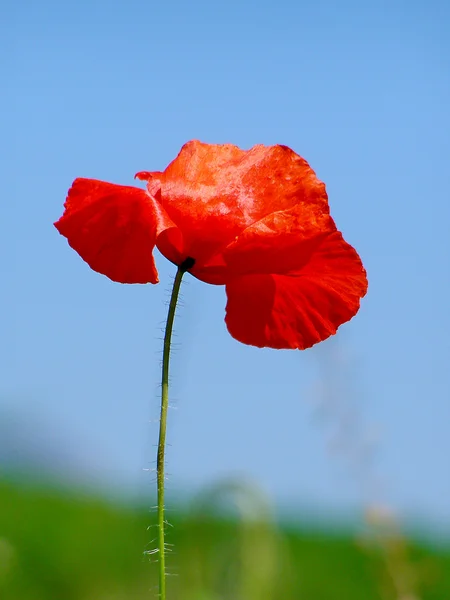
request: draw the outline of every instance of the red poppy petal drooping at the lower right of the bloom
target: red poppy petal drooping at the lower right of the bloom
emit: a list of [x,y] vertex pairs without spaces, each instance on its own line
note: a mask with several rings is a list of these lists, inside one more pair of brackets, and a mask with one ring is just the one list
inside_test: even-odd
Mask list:
[[358,254],[335,231],[321,240],[298,271],[230,280],[225,322],[244,344],[303,350],[349,321],[366,291]]

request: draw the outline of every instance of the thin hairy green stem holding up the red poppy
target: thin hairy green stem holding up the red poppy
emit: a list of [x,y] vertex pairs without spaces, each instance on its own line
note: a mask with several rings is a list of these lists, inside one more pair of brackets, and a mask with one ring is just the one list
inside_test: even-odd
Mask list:
[[164,351],[161,384],[161,419],[159,422],[158,459],[156,464],[156,479],[158,485],[158,554],[160,600],[166,600],[166,547],[164,542],[164,456],[166,451],[167,409],[169,407],[170,341],[172,339],[173,321],[175,317],[175,309],[177,307],[178,294],[180,292],[181,280],[183,278],[184,273],[185,268],[183,268],[183,265],[178,267],[178,271],[175,275],[175,280],[173,282],[172,295],[170,297],[169,304],[169,312],[167,314],[166,331],[164,333]]

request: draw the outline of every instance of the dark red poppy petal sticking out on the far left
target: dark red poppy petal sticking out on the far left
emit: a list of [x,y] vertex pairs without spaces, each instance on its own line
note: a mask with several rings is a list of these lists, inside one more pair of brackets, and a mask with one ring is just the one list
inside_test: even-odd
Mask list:
[[145,190],[76,179],[55,227],[89,266],[119,283],[158,283],[153,258],[167,216]]

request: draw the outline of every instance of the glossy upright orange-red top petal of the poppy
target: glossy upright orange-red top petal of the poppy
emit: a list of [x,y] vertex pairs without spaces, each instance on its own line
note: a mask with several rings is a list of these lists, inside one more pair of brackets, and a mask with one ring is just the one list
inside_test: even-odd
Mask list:
[[200,268],[245,228],[299,200],[328,210],[324,184],[286,146],[191,141],[164,172],[141,172],[148,191],[161,190],[161,204],[180,228],[186,253]]

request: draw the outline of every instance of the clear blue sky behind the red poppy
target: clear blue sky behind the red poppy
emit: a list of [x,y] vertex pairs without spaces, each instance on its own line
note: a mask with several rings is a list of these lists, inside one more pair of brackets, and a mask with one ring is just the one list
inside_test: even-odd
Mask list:
[[0,391],[13,453],[153,491],[142,469],[154,466],[174,267],[158,257],[158,286],[91,271],[52,225],[72,180],[133,184],[193,138],[282,143],[326,182],[369,294],[329,342],[258,350],[228,335],[224,289],[187,278],[169,489],[237,473],[281,505],[375,499],[450,525],[450,5],[29,0],[2,21]]

